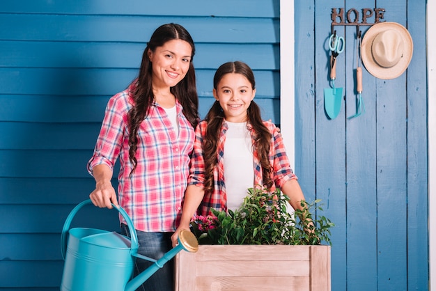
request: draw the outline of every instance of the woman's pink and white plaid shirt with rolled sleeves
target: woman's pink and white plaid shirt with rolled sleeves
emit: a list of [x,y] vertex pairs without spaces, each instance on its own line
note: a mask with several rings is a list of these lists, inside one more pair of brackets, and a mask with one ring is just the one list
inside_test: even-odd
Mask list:
[[[177,100],[178,136],[164,109],[153,104],[139,128],[138,164],[129,177],[132,164],[127,112],[132,108],[135,88],[136,83],[132,83],[109,100],[88,171],[92,175],[98,164],[113,169],[119,157],[118,203],[129,214],[134,227],[146,232],[174,231],[187,187],[194,129]],[[120,221],[125,222],[121,216]]]

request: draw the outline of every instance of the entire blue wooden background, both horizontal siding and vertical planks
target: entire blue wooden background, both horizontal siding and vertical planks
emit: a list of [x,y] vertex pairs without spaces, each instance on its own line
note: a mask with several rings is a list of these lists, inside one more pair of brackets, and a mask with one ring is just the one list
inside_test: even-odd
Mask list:
[[[295,1],[296,170],[321,198],[332,234],[332,290],[427,290],[426,41],[424,0]],[[254,69],[256,101],[279,123],[279,0],[22,0],[0,4],[0,289],[59,290],[60,232],[94,187],[86,172],[104,106],[137,74],[160,24],[184,25],[196,42],[201,115],[226,61]],[[366,113],[355,113],[355,28],[338,58],[345,90],[328,120],[326,39],[333,7],[386,9],[414,39],[406,74],[364,70]],[[366,28],[363,28],[365,31]],[[283,96],[285,97],[285,96]],[[87,207],[74,223],[117,228]]]

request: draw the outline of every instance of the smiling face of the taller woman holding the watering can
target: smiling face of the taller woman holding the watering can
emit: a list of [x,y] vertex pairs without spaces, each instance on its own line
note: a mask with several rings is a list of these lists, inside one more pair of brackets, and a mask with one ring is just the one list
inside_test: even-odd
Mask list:
[[153,66],[153,88],[173,87],[185,78],[192,48],[185,40],[169,40],[155,52],[148,51]]

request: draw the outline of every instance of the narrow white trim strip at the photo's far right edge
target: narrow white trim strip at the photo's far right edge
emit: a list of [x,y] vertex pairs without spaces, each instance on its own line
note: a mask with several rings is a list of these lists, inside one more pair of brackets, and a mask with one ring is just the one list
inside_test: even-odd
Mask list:
[[[436,291],[436,2],[427,1],[428,246],[430,290]],[[430,31],[433,31],[430,33]]]

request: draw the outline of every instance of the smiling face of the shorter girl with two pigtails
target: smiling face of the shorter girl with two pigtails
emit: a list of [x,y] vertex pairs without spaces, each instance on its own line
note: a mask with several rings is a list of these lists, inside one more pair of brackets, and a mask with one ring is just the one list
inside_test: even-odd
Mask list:
[[244,123],[247,121],[247,109],[256,95],[256,89],[243,74],[224,74],[213,89],[213,95],[219,101],[224,116],[231,123]]

